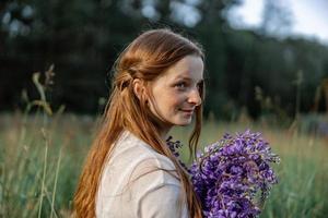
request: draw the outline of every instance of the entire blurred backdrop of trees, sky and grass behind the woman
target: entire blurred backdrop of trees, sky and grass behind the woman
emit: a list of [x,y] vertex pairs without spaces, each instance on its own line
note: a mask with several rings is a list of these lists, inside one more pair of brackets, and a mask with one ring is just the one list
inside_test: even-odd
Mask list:
[[[203,46],[201,145],[251,128],[282,157],[262,217],[327,217],[327,0],[1,0],[0,217],[69,216],[112,65],[159,27]],[[172,132],[185,143],[189,133]]]

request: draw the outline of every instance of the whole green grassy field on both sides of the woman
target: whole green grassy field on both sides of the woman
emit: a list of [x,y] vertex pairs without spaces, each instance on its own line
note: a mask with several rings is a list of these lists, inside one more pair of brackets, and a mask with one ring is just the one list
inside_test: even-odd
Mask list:
[[[0,217],[68,217],[96,123],[74,114],[1,114]],[[328,217],[328,140],[268,125],[208,121],[201,145],[246,129],[262,132],[281,157],[276,166],[280,183],[261,217]],[[178,128],[172,135],[186,144],[189,131]]]

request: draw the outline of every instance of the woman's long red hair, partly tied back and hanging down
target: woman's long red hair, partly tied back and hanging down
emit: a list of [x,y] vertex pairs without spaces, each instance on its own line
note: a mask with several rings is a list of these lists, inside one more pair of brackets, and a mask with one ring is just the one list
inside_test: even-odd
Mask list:
[[[161,138],[159,123],[149,109],[147,99],[139,99],[132,87],[134,78],[140,78],[145,84],[152,82],[189,55],[203,59],[203,52],[196,43],[169,29],[144,32],[121,52],[113,68],[115,73],[112,95],[106,106],[103,123],[85,160],[74,195],[75,217],[95,217],[95,198],[102,171],[122,130],[130,131],[174,162],[185,191],[190,218],[202,217],[200,202],[194,192],[188,174]],[[201,99],[203,99],[203,84],[201,84],[199,88]],[[196,107],[196,122],[189,137],[189,150],[194,155],[198,145],[201,122],[202,105]]]

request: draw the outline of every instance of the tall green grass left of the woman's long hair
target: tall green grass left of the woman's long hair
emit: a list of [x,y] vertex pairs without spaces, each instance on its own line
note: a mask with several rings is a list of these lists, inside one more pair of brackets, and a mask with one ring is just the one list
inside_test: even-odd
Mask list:
[[[2,114],[0,217],[66,217],[92,128],[74,116]],[[82,119],[82,118],[81,118]]]

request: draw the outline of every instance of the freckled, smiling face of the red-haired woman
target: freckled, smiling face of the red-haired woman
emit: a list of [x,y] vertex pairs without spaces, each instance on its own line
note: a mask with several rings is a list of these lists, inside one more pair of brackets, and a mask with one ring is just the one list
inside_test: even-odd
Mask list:
[[201,104],[199,85],[203,81],[200,57],[187,56],[151,83],[151,111],[162,121],[164,131],[187,125],[196,106]]

